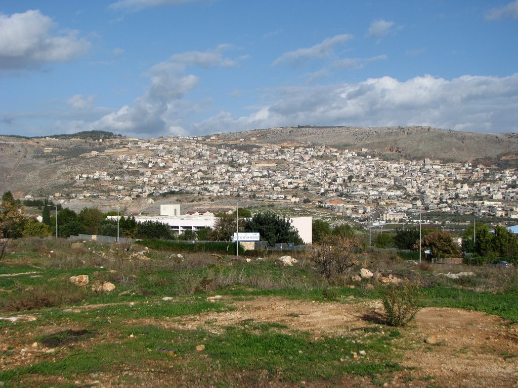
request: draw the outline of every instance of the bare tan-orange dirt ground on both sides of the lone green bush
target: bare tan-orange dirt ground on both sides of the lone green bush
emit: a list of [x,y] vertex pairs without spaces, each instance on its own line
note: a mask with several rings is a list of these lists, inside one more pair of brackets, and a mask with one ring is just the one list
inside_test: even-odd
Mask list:
[[[376,324],[365,319],[373,311],[378,316],[383,314],[381,301],[356,299],[318,303],[260,297],[233,305],[236,310],[169,318],[163,324],[178,329],[203,327],[219,333],[225,326],[253,320],[276,322],[324,337],[350,335]],[[398,372],[391,386],[518,386],[518,327],[499,317],[462,309],[424,308],[400,331],[403,335],[396,351],[407,370]]]

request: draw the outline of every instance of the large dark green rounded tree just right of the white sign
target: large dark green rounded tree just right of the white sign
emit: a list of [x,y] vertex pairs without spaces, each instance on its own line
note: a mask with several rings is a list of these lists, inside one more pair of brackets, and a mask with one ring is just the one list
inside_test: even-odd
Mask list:
[[298,231],[291,225],[289,220],[269,211],[254,214],[247,221],[245,230],[247,232],[260,233],[261,240],[268,241],[270,245],[275,245],[276,243],[304,244]]

